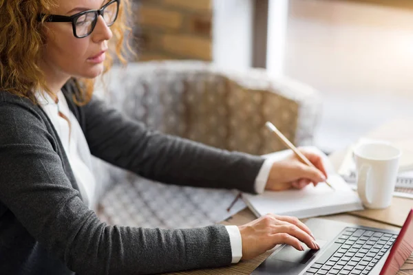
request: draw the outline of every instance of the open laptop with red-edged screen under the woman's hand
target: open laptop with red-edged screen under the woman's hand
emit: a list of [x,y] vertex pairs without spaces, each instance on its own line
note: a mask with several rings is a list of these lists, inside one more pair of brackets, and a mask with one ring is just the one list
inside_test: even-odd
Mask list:
[[320,250],[282,245],[252,274],[390,275],[413,252],[413,209],[400,232],[328,219],[309,219],[306,225]]

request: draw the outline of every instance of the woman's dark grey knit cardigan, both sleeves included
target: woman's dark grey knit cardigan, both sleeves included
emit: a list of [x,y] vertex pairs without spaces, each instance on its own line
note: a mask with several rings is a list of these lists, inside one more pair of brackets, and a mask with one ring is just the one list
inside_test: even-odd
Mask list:
[[[264,160],[151,131],[93,98],[72,101],[92,155],[169,184],[254,192]],[[182,172],[185,171],[185,172]],[[231,263],[222,225],[186,230],[109,226],[81,200],[52,123],[0,91],[0,273],[153,274]]]

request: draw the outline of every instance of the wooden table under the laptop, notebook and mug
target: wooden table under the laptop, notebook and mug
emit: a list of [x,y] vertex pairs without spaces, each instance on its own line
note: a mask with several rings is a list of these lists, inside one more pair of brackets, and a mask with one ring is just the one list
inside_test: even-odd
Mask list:
[[[410,126],[410,127],[409,127]],[[370,138],[382,138],[386,140],[410,140],[413,146],[413,121],[397,120],[384,124],[379,129],[376,129],[366,135]],[[330,160],[335,168],[341,164],[341,160],[345,155],[345,151],[339,151],[330,155]],[[400,229],[407,217],[408,212],[413,207],[413,199],[403,199],[393,197],[392,205],[384,210],[361,210],[356,212],[348,212],[346,214],[335,214],[324,216],[324,219],[332,219],[337,221],[344,221],[348,223],[357,223],[359,225],[372,226],[385,229]],[[248,209],[235,214],[233,217],[223,221],[224,225],[242,225],[256,219],[254,214]],[[304,220],[305,221],[305,220]],[[274,249],[273,249],[274,250]],[[241,261],[236,265],[229,267],[207,269],[207,270],[193,270],[190,272],[175,272],[170,274],[176,275],[205,275],[205,274],[251,274],[255,268],[264,261],[272,252],[270,250],[255,259],[250,261]],[[413,275],[413,254],[405,262],[398,274],[412,274]]]

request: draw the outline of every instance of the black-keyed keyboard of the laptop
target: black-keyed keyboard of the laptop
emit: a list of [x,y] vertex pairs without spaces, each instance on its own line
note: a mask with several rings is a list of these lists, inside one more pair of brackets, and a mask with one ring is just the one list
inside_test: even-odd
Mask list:
[[397,235],[360,228],[346,228],[306,275],[366,275],[387,252]]

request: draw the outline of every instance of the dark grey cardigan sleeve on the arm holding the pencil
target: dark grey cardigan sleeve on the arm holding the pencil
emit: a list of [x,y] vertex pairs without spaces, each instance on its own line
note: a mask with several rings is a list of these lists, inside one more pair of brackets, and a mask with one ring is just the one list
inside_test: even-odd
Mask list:
[[92,98],[85,137],[96,157],[164,183],[255,192],[264,159],[165,135]]

